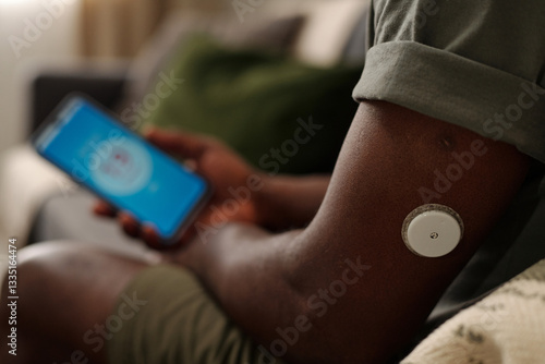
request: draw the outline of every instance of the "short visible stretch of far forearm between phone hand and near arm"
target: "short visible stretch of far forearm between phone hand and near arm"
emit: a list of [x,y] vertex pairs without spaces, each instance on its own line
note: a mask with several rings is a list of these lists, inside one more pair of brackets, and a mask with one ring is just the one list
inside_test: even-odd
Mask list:
[[255,195],[259,225],[271,230],[302,228],[316,215],[330,175],[266,177]]

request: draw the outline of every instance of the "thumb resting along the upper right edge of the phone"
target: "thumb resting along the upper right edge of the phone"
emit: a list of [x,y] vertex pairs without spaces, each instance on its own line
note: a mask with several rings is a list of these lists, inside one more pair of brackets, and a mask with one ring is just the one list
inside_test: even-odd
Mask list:
[[182,158],[198,159],[210,147],[210,139],[186,132],[161,131],[149,129],[145,137],[165,151],[173,153]]

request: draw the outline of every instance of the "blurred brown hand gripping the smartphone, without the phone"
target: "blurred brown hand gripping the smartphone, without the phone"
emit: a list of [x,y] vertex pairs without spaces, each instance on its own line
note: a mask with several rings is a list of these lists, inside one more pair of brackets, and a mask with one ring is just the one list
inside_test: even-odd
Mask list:
[[[187,132],[153,129],[145,136],[159,149],[191,160],[195,172],[206,178],[214,191],[208,206],[201,210],[178,245],[186,243],[195,234],[206,241],[229,221],[262,222],[255,197],[261,192],[265,178],[233,150],[214,138]],[[131,214],[118,211],[108,202],[97,202],[94,213],[118,217],[129,235],[143,239],[154,248],[161,246],[161,239],[152,227],[140,223]]]

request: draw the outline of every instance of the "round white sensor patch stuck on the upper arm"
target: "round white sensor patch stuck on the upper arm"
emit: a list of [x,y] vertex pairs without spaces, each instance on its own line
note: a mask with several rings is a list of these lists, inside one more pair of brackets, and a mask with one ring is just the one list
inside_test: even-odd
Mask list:
[[435,258],[455,250],[463,235],[463,222],[450,207],[424,205],[409,214],[401,234],[414,254]]

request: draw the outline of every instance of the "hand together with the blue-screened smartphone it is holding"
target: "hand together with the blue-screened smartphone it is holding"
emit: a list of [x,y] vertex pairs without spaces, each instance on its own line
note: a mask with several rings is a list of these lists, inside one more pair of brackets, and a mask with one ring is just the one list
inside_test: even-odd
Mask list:
[[[206,136],[158,130],[148,139],[87,98],[71,96],[33,143],[102,201],[95,207],[98,215],[121,211],[123,229],[155,248],[175,247],[195,233],[208,239],[228,221],[259,220],[255,195],[262,177],[227,146]],[[190,159],[195,172],[164,151]]]

